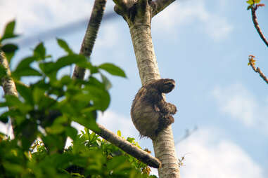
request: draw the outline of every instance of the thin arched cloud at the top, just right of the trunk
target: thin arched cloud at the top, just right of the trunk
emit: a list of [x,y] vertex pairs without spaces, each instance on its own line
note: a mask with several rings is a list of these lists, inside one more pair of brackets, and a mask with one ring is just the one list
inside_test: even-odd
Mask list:
[[208,1],[184,1],[174,2],[165,11],[153,20],[156,29],[159,31],[165,30],[166,32],[174,33],[179,31],[181,25],[191,25],[200,22],[201,31],[204,31],[212,39],[216,41],[224,39],[231,33],[232,25],[227,22],[224,16],[210,13],[205,7],[205,2]]

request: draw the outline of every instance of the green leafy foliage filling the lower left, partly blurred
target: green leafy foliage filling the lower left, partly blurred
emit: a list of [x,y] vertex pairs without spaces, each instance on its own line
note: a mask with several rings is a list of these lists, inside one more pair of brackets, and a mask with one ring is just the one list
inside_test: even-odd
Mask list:
[[[14,27],[15,21],[6,25],[0,43],[16,36]],[[0,121],[12,118],[15,138],[0,133],[0,177],[149,177],[147,165],[89,132],[98,130],[97,112],[106,111],[110,104],[111,84],[101,70],[123,77],[125,72],[110,63],[94,66],[63,39],[57,41],[65,56],[53,60],[44,43],[39,43],[32,55],[11,71],[18,97],[6,95],[1,100],[5,111]],[[0,46],[12,62],[18,46]],[[60,69],[72,64],[89,69],[89,77],[82,81],[58,75]],[[7,75],[4,67],[0,67],[0,75]],[[29,76],[35,78],[30,85],[21,83],[21,78]],[[72,121],[84,125],[82,134],[77,135]],[[65,149],[67,137],[73,142]],[[139,146],[133,138],[127,140]]]

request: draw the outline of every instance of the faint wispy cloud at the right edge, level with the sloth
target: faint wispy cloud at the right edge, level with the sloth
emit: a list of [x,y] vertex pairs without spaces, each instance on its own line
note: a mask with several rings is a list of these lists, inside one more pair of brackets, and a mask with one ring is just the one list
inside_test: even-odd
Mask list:
[[255,97],[240,84],[226,88],[216,87],[212,90],[220,111],[241,121],[247,127],[267,130],[268,102],[257,101]]

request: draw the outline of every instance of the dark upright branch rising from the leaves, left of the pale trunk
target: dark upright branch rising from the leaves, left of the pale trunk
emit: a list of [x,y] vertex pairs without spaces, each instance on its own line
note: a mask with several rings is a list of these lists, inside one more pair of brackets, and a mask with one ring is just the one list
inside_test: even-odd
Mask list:
[[[98,34],[98,28],[101,25],[101,20],[103,18],[103,12],[106,6],[107,0],[95,0],[91,16],[89,19],[89,24],[87,26],[86,34],[84,35],[84,40],[80,49],[80,54],[90,57],[96,36]],[[75,70],[72,74],[72,78],[83,79],[86,69],[82,67],[75,66]]]

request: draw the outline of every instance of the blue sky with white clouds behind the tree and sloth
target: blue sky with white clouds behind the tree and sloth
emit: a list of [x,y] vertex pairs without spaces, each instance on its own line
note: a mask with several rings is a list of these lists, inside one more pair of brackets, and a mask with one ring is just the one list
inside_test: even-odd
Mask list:
[[[79,52],[93,2],[0,0],[0,30],[15,19],[16,32],[22,34],[16,41],[20,51],[11,69],[39,41],[44,41],[55,58],[64,55],[56,37]],[[262,3],[268,6],[267,0]],[[113,12],[113,6],[108,0],[107,14]],[[257,10],[257,18],[268,38],[267,6]],[[152,20],[160,75],[177,83],[167,94],[167,102],[178,108],[172,130],[177,156],[184,157],[181,177],[264,178],[268,174],[268,86],[247,65],[248,55],[255,55],[256,66],[268,76],[268,49],[246,8],[245,0],[181,0]],[[60,27],[68,29],[44,37]],[[31,43],[25,43],[29,39]],[[121,130],[124,137],[135,137],[143,148],[153,151],[150,139],[139,139],[129,114],[141,81],[123,18],[114,15],[103,20],[91,61],[113,62],[127,74],[127,78],[108,76],[113,83],[111,103],[104,114],[98,114],[98,123],[113,132]],[[70,69],[62,72],[69,74]],[[1,124],[0,130],[7,128]],[[183,139],[186,130],[194,131]]]

